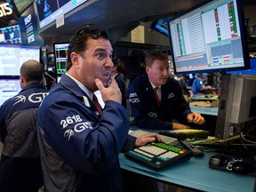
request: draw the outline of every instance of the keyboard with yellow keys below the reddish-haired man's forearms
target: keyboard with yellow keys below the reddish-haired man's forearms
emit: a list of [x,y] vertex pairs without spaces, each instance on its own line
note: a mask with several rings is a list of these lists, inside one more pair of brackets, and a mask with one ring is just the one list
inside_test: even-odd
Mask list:
[[179,130],[168,130],[161,131],[159,134],[169,136],[172,138],[177,138],[178,140],[186,140],[192,138],[202,138],[207,139],[209,136],[209,131],[196,130],[196,129],[179,129]]

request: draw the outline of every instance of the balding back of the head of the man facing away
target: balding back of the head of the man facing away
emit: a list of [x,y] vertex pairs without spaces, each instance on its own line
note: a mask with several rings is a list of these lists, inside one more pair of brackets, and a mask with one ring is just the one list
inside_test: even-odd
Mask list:
[[43,79],[44,67],[37,60],[27,60],[21,65],[20,75],[26,82],[41,82]]

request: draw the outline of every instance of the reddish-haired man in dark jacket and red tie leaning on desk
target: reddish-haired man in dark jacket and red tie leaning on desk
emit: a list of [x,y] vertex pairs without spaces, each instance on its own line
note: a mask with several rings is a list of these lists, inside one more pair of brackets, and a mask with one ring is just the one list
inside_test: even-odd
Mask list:
[[203,116],[191,112],[180,83],[169,76],[167,55],[149,52],[145,63],[146,73],[134,79],[129,89],[136,125],[142,129],[166,130],[204,124]]

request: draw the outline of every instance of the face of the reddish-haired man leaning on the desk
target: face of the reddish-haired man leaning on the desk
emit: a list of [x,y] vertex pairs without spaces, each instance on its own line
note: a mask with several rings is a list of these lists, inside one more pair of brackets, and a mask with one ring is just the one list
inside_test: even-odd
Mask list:
[[149,80],[156,86],[165,84],[168,78],[168,63],[166,60],[155,60],[151,67],[146,68]]

